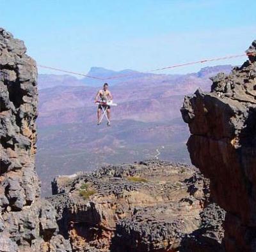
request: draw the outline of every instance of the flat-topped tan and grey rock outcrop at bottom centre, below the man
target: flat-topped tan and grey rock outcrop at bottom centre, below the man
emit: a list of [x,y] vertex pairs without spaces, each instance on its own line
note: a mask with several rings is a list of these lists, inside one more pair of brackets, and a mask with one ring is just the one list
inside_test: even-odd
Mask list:
[[163,161],[60,176],[52,188],[48,200],[73,251],[177,251],[209,204],[207,179]]

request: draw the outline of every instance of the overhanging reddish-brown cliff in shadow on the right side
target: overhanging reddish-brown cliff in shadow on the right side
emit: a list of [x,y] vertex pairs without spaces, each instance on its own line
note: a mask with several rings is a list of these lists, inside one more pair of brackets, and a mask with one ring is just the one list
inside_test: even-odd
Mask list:
[[197,90],[181,109],[191,161],[227,211],[226,251],[256,251],[256,40],[246,52],[243,66],[212,78],[211,93]]

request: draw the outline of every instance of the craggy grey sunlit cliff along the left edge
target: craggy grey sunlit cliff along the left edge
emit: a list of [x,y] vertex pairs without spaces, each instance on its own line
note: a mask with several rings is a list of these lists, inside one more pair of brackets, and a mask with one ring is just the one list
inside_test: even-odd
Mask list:
[[23,41],[0,28],[0,251],[70,251],[54,207],[40,199],[36,78]]

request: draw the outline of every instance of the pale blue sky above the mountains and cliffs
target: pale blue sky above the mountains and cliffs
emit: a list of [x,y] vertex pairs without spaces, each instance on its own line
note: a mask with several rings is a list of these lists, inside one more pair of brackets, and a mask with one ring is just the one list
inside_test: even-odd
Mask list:
[[0,26],[24,40],[38,64],[82,73],[91,66],[146,71],[243,53],[256,39],[255,10],[255,0],[0,0]]

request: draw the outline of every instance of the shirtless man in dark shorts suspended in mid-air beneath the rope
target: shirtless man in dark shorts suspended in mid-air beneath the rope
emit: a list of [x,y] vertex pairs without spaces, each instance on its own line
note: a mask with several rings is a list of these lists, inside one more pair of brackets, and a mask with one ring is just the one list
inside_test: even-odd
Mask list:
[[[98,91],[98,93],[95,97],[95,103],[98,101],[99,97],[100,97],[100,101],[102,101],[102,102],[107,102],[109,100],[113,100],[112,94],[108,91],[108,83],[104,83],[103,89]],[[100,117],[101,117],[102,107],[104,109],[107,108],[107,116],[108,116],[108,119],[109,119],[108,126],[110,126],[111,123],[110,123],[110,106],[109,105],[99,105],[98,112],[97,112],[97,114],[98,114],[98,123],[97,123],[97,125],[100,124]]]

